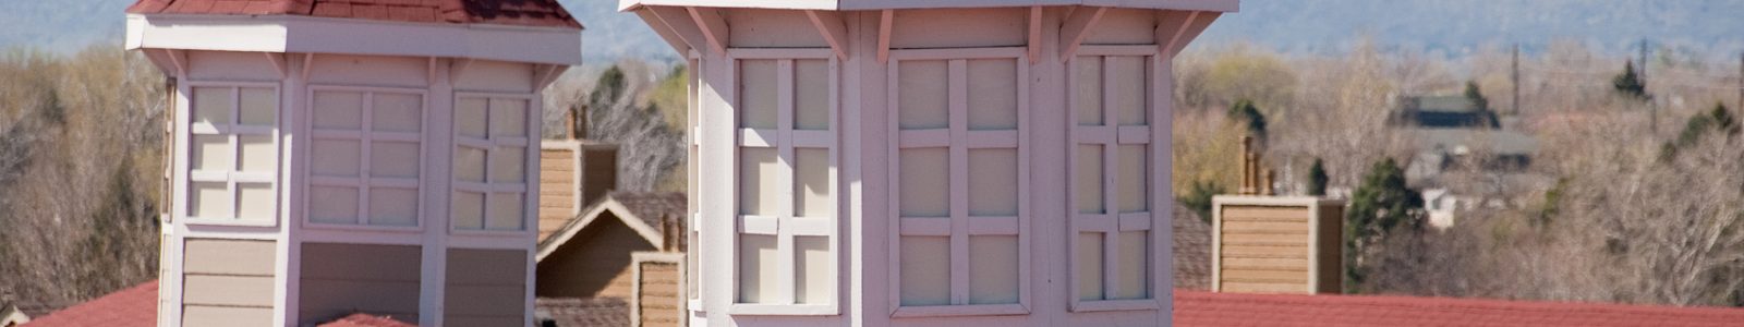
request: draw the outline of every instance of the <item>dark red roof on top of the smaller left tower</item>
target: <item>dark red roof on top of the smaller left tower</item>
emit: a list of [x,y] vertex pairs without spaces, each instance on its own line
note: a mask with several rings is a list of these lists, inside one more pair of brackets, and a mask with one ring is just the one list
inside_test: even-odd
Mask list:
[[581,28],[556,0],[138,0],[127,14],[312,16]]

